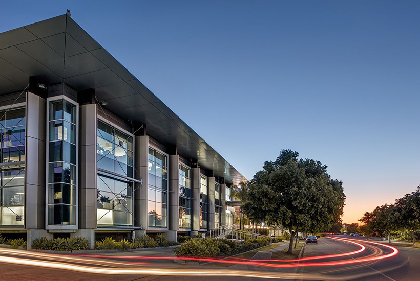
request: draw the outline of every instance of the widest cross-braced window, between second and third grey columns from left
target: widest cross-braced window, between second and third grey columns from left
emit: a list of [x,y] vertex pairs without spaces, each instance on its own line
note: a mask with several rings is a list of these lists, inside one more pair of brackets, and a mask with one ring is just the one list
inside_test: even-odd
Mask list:
[[98,226],[132,226],[134,182],[123,176],[133,177],[133,137],[98,120],[97,166],[121,176],[98,171]]

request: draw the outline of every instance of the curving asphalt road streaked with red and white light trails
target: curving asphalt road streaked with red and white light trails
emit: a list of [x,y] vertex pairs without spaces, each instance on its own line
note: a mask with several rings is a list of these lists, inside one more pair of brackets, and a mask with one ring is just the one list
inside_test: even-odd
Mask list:
[[[0,248],[0,280],[268,280],[261,278],[263,276],[283,280],[420,280],[420,249],[397,248],[398,254],[382,259],[392,255],[394,250],[359,239],[345,241],[324,238],[319,240],[318,245],[305,246],[303,260],[298,266],[296,262],[256,260],[241,261],[244,262],[242,265],[198,266],[176,263],[170,257],[167,260],[156,260],[160,259],[159,254],[140,259],[137,255],[141,252],[121,253],[118,254],[119,257],[104,258],[50,255]],[[129,259],[125,255],[134,258]],[[162,275],[155,275],[156,273]],[[235,276],[226,276],[228,274]]]

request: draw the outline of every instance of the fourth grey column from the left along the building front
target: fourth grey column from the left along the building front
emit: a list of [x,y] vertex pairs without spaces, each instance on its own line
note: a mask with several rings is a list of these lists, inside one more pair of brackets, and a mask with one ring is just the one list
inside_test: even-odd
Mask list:
[[[169,155],[169,214],[167,239],[177,241],[179,224],[179,156]],[[172,232],[172,233],[170,233]],[[174,234],[175,233],[175,234]]]

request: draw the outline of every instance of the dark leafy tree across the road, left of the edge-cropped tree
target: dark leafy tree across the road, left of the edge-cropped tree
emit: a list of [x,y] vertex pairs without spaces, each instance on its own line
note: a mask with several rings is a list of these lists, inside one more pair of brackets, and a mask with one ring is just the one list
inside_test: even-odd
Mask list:
[[372,212],[365,212],[359,221],[380,235],[388,235],[388,242],[391,243],[391,231],[397,229],[400,220],[401,216],[395,205],[385,204],[377,206]]

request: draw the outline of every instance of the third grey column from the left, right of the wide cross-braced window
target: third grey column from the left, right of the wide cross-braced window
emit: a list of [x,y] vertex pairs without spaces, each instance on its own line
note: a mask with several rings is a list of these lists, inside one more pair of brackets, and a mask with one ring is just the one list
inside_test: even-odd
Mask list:
[[[136,230],[136,237],[140,237],[148,228],[148,155],[149,155],[149,137],[139,135],[135,137],[134,148],[134,166],[138,173],[135,178],[143,181],[143,186],[136,183],[134,192],[134,217],[135,226],[142,227],[142,230]],[[138,188],[137,188],[138,187]]]

